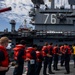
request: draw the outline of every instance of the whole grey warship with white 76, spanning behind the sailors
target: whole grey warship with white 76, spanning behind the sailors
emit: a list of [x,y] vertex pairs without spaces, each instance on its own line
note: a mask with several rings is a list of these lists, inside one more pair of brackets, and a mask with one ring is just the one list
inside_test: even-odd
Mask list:
[[[51,8],[45,5],[43,0],[31,0],[34,7],[29,12],[31,18],[30,24],[35,26],[34,30],[28,28],[19,28],[15,31],[16,22],[10,21],[11,32],[4,30],[0,32],[0,37],[7,36],[12,40],[12,46],[20,40],[26,40],[27,46],[37,44],[42,46],[44,42],[52,42],[54,45],[75,43],[75,0],[68,0],[70,8],[61,6],[55,8],[55,0],[51,2]],[[45,9],[40,6],[44,5]]]

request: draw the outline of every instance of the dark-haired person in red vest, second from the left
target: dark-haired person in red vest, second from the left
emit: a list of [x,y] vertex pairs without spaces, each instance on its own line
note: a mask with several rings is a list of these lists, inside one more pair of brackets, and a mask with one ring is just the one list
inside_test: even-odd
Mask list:
[[26,58],[25,48],[26,48],[26,42],[24,40],[21,40],[20,43],[16,45],[15,48],[13,48],[14,60],[16,61],[13,75],[23,74],[24,60]]

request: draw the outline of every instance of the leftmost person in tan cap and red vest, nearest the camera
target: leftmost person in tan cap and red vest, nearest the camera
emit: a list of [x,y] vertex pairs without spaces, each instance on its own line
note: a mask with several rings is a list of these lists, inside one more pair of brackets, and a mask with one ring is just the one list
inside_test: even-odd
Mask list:
[[9,56],[6,50],[9,42],[11,41],[7,37],[0,38],[0,75],[5,75],[9,69]]

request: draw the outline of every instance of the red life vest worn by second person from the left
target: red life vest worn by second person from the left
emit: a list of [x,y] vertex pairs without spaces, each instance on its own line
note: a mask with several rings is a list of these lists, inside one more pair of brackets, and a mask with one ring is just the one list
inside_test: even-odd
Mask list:
[[[19,51],[22,50],[22,49],[25,49],[25,46],[24,46],[24,45],[21,45],[21,44],[16,45],[16,47],[13,48],[13,50],[14,50],[14,59],[15,59],[15,60],[17,60],[17,56],[18,56],[18,54],[19,54]],[[24,50],[24,55],[22,56],[22,58],[23,58],[23,59],[26,58],[26,52],[25,52],[25,50]]]

